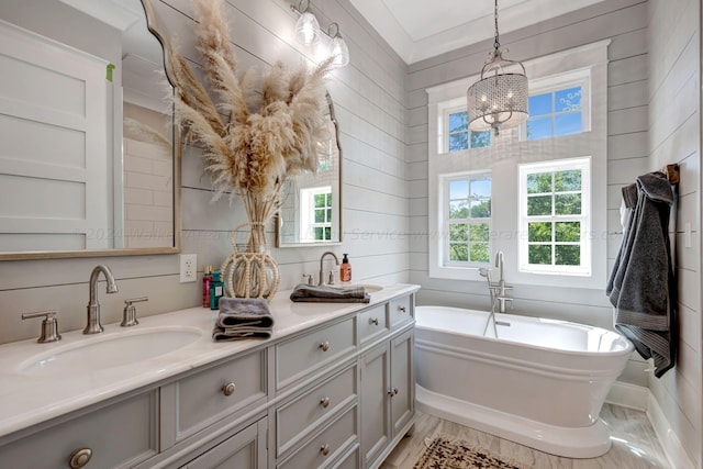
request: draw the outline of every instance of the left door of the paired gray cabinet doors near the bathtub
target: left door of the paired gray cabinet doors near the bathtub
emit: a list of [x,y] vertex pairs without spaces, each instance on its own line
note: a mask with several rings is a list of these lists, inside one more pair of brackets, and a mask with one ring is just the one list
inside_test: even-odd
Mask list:
[[367,467],[391,439],[390,347],[381,344],[361,358],[361,456]]

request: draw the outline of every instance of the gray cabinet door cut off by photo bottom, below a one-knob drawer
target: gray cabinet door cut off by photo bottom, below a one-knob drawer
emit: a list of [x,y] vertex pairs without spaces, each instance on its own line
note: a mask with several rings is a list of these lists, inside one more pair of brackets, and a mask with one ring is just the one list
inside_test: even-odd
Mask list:
[[181,469],[266,469],[267,418],[261,418],[225,439]]

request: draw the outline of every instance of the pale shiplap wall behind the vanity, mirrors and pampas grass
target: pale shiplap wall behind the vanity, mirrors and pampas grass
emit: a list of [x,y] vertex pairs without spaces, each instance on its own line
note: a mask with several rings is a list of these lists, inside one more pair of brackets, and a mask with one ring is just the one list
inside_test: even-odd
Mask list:
[[[152,0],[157,25],[170,38],[178,36],[182,53],[198,62],[192,38],[192,9],[188,0]],[[298,3],[298,2],[295,2]],[[339,24],[352,63],[335,70],[328,89],[342,131],[344,244],[331,247],[349,253],[354,280],[408,280],[406,125],[404,78],[406,65],[350,5],[348,0],[312,2],[321,25]],[[268,67],[276,60],[297,64],[312,51],[292,40],[298,15],[283,0],[228,0],[232,41],[242,71]],[[198,270],[219,266],[231,252],[227,235],[245,221],[237,201],[211,203],[210,183],[202,176],[199,150],[182,156],[182,252],[198,255]],[[272,246],[272,227],[269,226]],[[290,289],[303,272],[319,271],[324,248],[272,249],[281,268],[281,290]],[[59,331],[82,328],[88,303],[88,279],[98,264],[110,266],[120,288],[105,294],[99,288],[102,322],[121,320],[124,300],[148,295],[140,315],[158,314],[200,304],[201,283],[179,283],[175,255],[98,257],[0,263],[0,344],[38,335],[36,321],[21,321],[25,311],[57,309]],[[326,261],[325,270],[333,264]],[[200,277],[199,277],[200,279]]]

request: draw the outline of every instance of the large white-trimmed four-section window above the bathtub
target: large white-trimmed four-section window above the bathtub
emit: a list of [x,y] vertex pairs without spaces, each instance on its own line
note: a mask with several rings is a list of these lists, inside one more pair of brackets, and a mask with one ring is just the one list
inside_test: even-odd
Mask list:
[[[431,278],[481,281],[500,249],[513,284],[602,288],[609,43],[523,63],[531,120],[499,138],[466,126],[466,89],[478,77],[426,90]],[[482,179],[490,190],[476,189]]]

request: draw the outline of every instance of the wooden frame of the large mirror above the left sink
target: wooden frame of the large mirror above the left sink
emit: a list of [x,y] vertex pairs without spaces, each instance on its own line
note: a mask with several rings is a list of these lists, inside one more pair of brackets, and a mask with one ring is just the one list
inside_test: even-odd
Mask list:
[[[176,92],[176,86],[170,78],[172,74],[168,63],[169,44],[165,35],[156,24],[156,15],[150,0],[141,0],[146,15],[146,27],[161,44],[164,58],[164,72]],[[171,113],[174,118],[174,113]],[[181,249],[181,136],[180,130],[174,121],[174,245],[165,247],[135,247],[135,248],[110,248],[110,249],[85,249],[85,250],[24,250],[24,252],[0,252],[0,260],[23,260],[23,259],[58,259],[58,258],[81,258],[81,257],[115,257],[115,256],[142,256],[152,254],[178,254]]]

